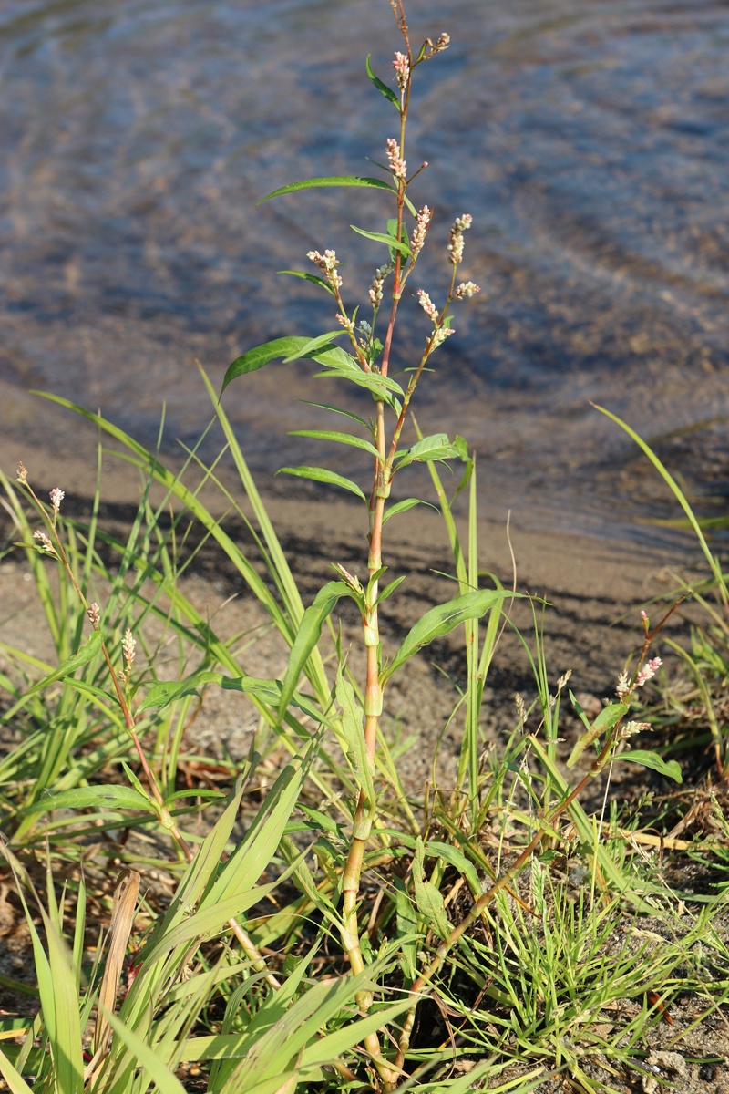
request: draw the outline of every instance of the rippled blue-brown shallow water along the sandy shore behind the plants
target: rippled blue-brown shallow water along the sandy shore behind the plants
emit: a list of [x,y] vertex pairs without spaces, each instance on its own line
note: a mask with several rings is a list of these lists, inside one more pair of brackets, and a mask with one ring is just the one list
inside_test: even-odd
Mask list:
[[[631,535],[636,515],[672,512],[590,400],[721,507],[729,8],[411,0],[409,14],[414,42],[452,42],[415,90],[408,160],[430,166],[412,197],[437,216],[418,284],[443,298],[442,246],[469,211],[462,276],[483,289],[435,359],[422,423],[477,447],[494,515]],[[396,114],[364,54],[389,81],[399,47],[387,0],[4,0],[7,428],[33,428],[13,393],[39,387],[148,442],[164,401],[171,442],[189,443],[210,415],[196,359],[219,385],[250,346],[334,326],[328,300],[277,270],[336,247],[351,256],[348,299],[366,295],[383,256],[349,224],[381,230],[377,196],[255,202],[296,178],[376,174],[365,158],[383,159]],[[426,333],[405,304],[401,363]],[[326,419],[303,420],[292,397],[333,394],[301,364],[234,384],[226,408],[254,467],[315,462],[285,430]],[[78,435],[58,430],[46,440]]]

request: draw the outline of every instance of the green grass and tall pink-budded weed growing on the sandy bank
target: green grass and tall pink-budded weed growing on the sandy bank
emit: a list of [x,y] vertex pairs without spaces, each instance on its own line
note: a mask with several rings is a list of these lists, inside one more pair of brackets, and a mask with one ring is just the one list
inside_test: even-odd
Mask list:
[[[367,318],[344,299],[334,252],[311,251],[317,272],[294,276],[332,298],[337,329],[255,347],[222,385],[273,360],[314,361],[322,382],[338,382],[342,401],[316,406],[340,428],[296,434],[363,453],[368,478],[331,466],[282,470],[357,499],[362,577],[334,561],[334,577],[305,606],[204,373],[236,491],[197,450],[173,472],[160,449],[59,396],[141,473],[126,537],[101,527],[101,474],[84,522],[63,515],[58,488],[45,503],[23,465],[16,482],[3,479],[13,539],[55,651],[51,663],[3,648],[11,667],[2,726],[22,732],[0,763],[1,850],[26,917],[40,1004],[26,1021],[0,1020],[9,1038],[0,1072],[13,1091],[455,1094],[563,1082],[620,1091],[660,1072],[654,1048],[667,1072],[680,1041],[677,1031],[665,1045],[667,1004],[678,992],[693,992],[707,1014],[729,990],[715,926],[722,895],[690,910],[636,825],[585,800],[619,761],[681,780],[674,759],[632,741],[649,728],[634,708],[660,667],[651,648],[674,606],[652,627],[643,613],[638,656],[592,717],[567,675],[550,684],[539,627],[520,636],[536,699],[521,703],[505,746],[484,759],[486,680],[521,597],[482,570],[467,442],[423,435],[412,417],[432,359],[455,333],[451,306],[479,291],[458,280],[469,214],[451,223],[445,303],[418,290],[424,346],[395,371],[405,286],[434,216],[408,194],[423,170],[405,162],[411,90],[448,37],[413,48],[402,3],[392,7],[403,46],[393,86],[367,60],[397,116],[384,177],[309,179],[269,195],[339,186],[390,202],[384,231],[355,228],[367,246],[384,248]],[[353,409],[363,393],[372,399],[366,418]],[[427,503],[445,524],[452,595],[392,641],[380,607],[398,597],[403,577],[388,579],[387,522],[426,501],[392,500],[396,476],[399,486],[415,463],[427,466]],[[450,493],[443,464],[458,468]],[[251,550],[226,531],[205,500],[210,490]],[[256,605],[256,629],[226,636],[187,595],[185,571],[211,545]],[[713,573],[718,581],[720,570]],[[348,610],[357,620],[353,649],[342,629]],[[277,642],[267,667],[278,667],[266,675],[247,671],[261,624]],[[402,779],[386,714],[391,682],[442,640],[460,643],[463,686],[447,725],[461,745],[450,785],[436,776],[424,800]],[[213,696],[234,698],[252,726],[249,755],[223,757],[216,781],[207,778],[209,758],[186,743]],[[579,725],[566,757],[565,708]],[[94,941],[107,916],[108,931]]]

